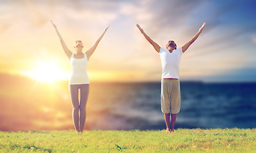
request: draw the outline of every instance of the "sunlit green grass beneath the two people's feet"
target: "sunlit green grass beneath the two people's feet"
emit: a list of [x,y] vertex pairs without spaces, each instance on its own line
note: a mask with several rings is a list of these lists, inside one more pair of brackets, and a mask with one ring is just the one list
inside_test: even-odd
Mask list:
[[256,129],[0,131],[0,152],[256,152]]

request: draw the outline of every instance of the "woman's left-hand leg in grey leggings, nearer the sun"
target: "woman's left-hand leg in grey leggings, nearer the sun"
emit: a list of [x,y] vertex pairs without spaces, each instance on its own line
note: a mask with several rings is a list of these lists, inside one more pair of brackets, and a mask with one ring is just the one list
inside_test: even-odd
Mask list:
[[68,86],[70,98],[73,106],[72,117],[76,131],[79,131],[79,101],[78,101],[78,85]]

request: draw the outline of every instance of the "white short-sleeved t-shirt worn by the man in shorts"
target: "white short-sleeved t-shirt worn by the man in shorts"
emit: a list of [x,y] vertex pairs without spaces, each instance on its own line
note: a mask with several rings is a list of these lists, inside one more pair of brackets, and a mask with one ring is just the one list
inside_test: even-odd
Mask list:
[[162,79],[163,78],[179,78],[180,58],[182,55],[182,47],[173,50],[160,48],[160,58],[162,62]]

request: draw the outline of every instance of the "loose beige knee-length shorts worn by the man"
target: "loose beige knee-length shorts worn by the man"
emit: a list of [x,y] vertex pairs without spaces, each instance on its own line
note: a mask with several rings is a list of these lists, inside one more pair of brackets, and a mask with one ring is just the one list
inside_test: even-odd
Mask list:
[[180,82],[179,80],[161,81],[161,109],[163,113],[180,112]]

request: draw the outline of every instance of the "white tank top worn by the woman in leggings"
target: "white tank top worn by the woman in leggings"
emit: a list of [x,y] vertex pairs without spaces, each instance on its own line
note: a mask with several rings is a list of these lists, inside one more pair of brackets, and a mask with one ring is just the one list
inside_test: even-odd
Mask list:
[[74,84],[90,84],[89,77],[87,75],[88,59],[84,53],[83,59],[74,58],[74,54],[70,57],[70,65],[72,74],[69,79],[69,85]]

